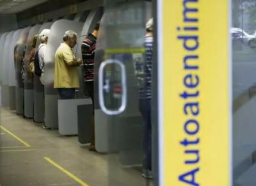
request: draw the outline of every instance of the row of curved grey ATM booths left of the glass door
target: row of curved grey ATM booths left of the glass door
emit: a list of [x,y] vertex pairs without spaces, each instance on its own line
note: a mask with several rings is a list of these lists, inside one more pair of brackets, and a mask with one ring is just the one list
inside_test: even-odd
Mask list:
[[[56,110],[58,92],[53,88],[54,54],[60,43],[63,42],[65,31],[72,29],[77,33],[78,40],[73,50],[76,57],[81,58],[81,42],[88,32],[93,31],[93,27],[101,19],[102,8],[90,11],[85,22],[77,21],[82,16],[77,14],[74,20],[60,19],[54,22],[45,22],[1,35],[1,100],[3,107],[10,107],[11,110],[16,110],[17,114],[23,114],[26,118],[34,118],[35,122],[45,121],[45,125],[49,128],[58,128],[58,118],[56,117],[58,115]],[[42,86],[38,76],[28,72],[29,56],[32,50],[31,42],[34,36],[43,29],[51,29],[45,60],[45,87]],[[36,42],[36,48],[38,45],[40,45],[39,40]],[[24,77],[21,73],[22,60],[24,61]],[[83,83],[81,85],[83,86]],[[82,94],[79,95],[79,97],[82,96]]]

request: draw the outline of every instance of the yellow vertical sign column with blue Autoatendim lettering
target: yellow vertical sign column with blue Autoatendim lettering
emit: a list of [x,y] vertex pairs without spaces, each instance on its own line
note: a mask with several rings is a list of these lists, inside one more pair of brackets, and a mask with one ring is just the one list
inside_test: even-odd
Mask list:
[[158,1],[161,186],[232,185],[229,6]]

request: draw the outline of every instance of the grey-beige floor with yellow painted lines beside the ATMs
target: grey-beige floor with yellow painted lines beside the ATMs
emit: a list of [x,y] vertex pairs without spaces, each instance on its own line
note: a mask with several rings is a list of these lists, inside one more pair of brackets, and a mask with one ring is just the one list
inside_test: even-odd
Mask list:
[[109,155],[88,151],[76,136],[60,136],[8,109],[0,117],[0,186],[152,185],[136,168],[109,166]]

